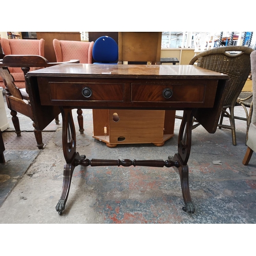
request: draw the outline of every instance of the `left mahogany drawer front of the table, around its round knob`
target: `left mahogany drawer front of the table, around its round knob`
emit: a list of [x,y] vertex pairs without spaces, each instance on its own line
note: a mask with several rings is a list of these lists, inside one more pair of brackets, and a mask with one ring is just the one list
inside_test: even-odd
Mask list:
[[[123,83],[72,83],[49,82],[50,99],[55,101],[123,101]],[[82,90],[88,88],[91,95],[86,97]]]

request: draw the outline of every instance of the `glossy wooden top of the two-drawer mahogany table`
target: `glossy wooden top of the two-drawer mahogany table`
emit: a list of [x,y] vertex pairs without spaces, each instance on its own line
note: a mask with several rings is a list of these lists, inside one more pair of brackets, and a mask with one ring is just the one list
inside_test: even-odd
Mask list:
[[193,65],[94,65],[61,64],[28,72],[27,76],[72,77],[147,77],[147,78],[214,78],[228,79],[222,73],[198,68]]

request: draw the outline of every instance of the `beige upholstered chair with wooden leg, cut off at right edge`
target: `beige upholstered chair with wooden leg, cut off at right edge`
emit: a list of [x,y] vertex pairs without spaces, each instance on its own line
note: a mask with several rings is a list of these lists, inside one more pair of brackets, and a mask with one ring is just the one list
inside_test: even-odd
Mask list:
[[[256,106],[256,51],[251,53],[251,75],[252,75],[252,106]],[[254,107],[255,108],[255,107]],[[247,151],[243,164],[247,165],[251,159],[253,151],[256,152],[256,111],[252,111],[251,123],[248,131]]]

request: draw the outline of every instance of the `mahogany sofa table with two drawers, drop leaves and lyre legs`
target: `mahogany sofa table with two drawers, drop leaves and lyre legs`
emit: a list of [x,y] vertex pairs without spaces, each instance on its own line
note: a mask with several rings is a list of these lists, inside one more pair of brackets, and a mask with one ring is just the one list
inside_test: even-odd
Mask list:
[[[188,184],[187,161],[193,117],[215,133],[229,84],[227,75],[189,65],[90,65],[61,64],[26,75],[34,123],[44,127],[43,113],[62,115],[62,147],[66,160],[63,185],[56,210],[65,209],[72,174],[82,166],[154,166],[179,170],[185,207],[195,211]],[[87,159],[76,151],[72,109],[183,110],[178,152],[168,160]],[[41,128],[40,128],[41,127]]]

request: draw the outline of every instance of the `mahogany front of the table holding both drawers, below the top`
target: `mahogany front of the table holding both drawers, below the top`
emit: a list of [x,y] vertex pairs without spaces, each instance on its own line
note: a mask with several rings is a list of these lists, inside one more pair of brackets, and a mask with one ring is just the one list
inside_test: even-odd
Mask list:
[[[132,82],[126,78],[120,78],[120,82],[111,80],[103,82],[106,79],[92,82],[90,78],[75,80],[71,82],[65,81],[64,78],[52,78],[52,81],[49,81],[40,77],[38,87],[41,104],[100,109],[110,106],[151,109],[156,105],[159,109],[168,106],[169,110],[170,108],[212,108],[215,100],[212,95],[216,94],[218,86],[218,81],[205,79],[189,82],[188,79],[152,79],[149,82],[144,82],[143,79]],[[84,88],[90,89],[91,94],[88,97],[82,94]],[[172,92],[172,97],[163,96],[163,91],[166,89]]]

